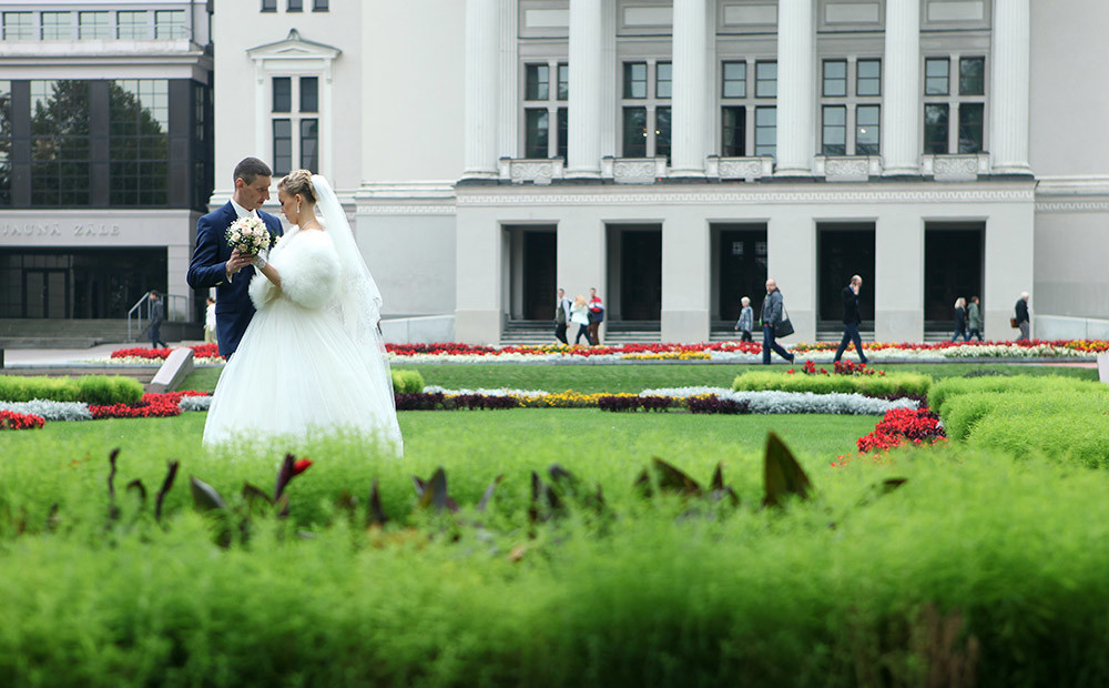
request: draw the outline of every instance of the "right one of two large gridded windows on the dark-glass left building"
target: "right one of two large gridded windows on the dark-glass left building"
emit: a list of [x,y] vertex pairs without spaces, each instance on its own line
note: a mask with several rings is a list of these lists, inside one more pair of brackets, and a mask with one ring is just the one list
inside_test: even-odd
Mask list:
[[126,79],[109,84],[109,202],[170,202],[170,82]]

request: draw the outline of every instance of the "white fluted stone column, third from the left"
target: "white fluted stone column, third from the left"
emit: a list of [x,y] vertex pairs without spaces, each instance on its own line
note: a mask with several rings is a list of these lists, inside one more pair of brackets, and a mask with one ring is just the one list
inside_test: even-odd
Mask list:
[[705,0],[674,0],[673,156],[671,176],[704,176],[709,74]]

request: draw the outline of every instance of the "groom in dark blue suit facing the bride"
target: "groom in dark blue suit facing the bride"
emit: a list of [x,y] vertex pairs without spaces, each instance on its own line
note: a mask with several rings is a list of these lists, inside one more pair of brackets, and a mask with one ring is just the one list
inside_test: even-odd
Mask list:
[[254,317],[254,304],[247,287],[254,276],[253,255],[232,251],[226,232],[232,222],[254,215],[265,223],[271,234],[281,235],[281,220],[262,212],[269,200],[273,181],[269,166],[257,158],[246,158],[235,165],[235,193],[220,210],[196,222],[196,246],[189,264],[189,286],[216,287],[215,323],[220,355],[230,358],[238,347],[246,326]]

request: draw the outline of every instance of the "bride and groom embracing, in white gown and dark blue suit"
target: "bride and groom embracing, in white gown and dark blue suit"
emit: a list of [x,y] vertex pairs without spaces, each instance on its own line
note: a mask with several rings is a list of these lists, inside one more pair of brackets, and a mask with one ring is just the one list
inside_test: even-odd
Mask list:
[[355,433],[401,451],[393,377],[378,328],[381,294],[326,179],[277,184],[289,224],[262,212],[273,173],[235,168],[235,192],[200,219],[189,285],[216,289],[220,376],[204,445]]

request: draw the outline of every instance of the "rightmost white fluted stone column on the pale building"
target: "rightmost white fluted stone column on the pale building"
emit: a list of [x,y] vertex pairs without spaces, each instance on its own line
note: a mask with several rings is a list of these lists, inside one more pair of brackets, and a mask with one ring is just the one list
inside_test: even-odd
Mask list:
[[994,1],[989,150],[993,171],[1031,174],[1028,166],[1029,0]]

